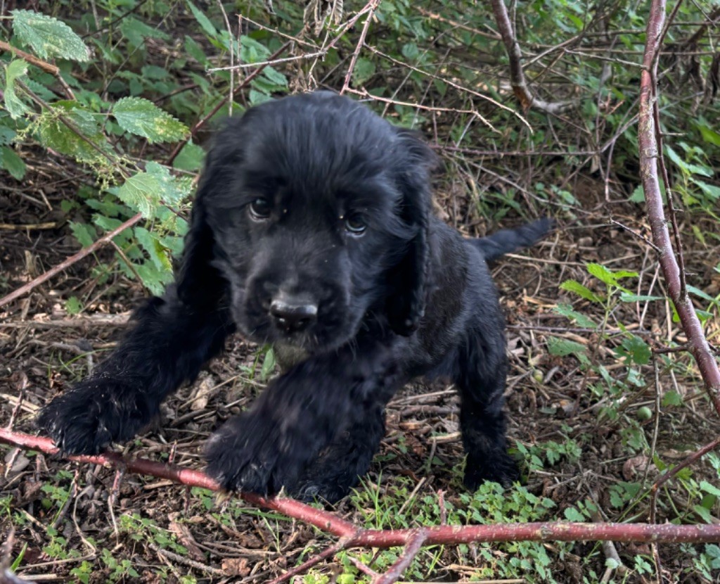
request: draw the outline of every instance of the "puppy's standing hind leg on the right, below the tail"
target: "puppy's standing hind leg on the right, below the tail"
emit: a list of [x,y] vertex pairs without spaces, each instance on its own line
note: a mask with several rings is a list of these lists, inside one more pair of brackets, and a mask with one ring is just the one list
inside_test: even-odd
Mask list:
[[462,400],[460,428],[467,452],[464,483],[469,489],[486,480],[509,486],[520,477],[505,438],[507,369],[502,323],[483,323],[482,330],[469,331],[454,375]]

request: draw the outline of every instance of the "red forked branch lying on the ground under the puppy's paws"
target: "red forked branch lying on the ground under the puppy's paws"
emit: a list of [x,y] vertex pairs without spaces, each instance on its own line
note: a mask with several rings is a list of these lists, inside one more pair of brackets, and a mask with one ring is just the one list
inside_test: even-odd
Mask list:
[[[53,441],[42,436],[32,436],[0,429],[0,442],[19,448],[37,450],[45,454],[60,454]],[[142,458],[124,458],[115,452],[96,456],[71,456],[68,460],[105,467],[122,467],[127,472],[152,475],[192,487],[219,491],[220,485],[199,470],[186,469],[174,464],[163,464]],[[570,522],[497,524],[497,525],[441,525],[418,529],[360,529],[333,513],[322,511],[289,498],[264,498],[252,493],[238,493],[248,503],[283,513],[305,521],[328,534],[343,539],[336,551],[350,547],[397,547],[406,546],[398,570],[403,570],[423,545],[461,544],[470,542],[720,542],[720,525],[652,525],[652,524],[582,524]],[[323,557],[326,557],[323,554]],[[313,562],[315,563],[315,562]],[[309,567],[309,565],[307,565]],[[392,570],[392,568],[391,568]],[[297,572],[294,572],[297,573]],[[387,574],[385,575],[387,576]],[[281,581],[281,580],[278,580]],[[392,580],[379,580],[384,584]]]

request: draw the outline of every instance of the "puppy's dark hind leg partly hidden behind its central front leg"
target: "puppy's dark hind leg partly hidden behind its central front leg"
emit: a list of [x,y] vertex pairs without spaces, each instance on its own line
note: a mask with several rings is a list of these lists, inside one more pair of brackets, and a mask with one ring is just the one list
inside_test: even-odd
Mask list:
[[384,433],[382,405],[359,405],[346,430],[305,467],[291,495],[305,501],[341,500],[366,474]]

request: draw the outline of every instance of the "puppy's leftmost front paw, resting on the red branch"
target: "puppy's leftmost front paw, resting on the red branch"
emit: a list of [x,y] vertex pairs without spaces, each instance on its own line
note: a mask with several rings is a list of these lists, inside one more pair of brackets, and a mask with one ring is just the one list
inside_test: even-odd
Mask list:
[[127,382],[91,377],[40,410],[37,426],[68,454],[98,454],[135,436],[157,406]]

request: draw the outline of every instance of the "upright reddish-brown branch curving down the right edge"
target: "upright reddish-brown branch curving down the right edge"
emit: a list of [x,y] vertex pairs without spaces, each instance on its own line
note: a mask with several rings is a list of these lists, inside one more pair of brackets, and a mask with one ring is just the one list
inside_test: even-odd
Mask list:
[[[652,241],[661,251],[659,258],[660,268],[667,282],[667,289],[670,292],[672,303],[675,305],[675,310],[678,311],[680,324],[683,325],[683,331],[688,336],[688,348],[698,364],[708,395],[714,403],[716,411],[720,414],[720,369],[705,338],[695,307],[693,307],[688,292],[682,284],[684,274],[680,270],[678,259],[672,249],[670,231],[667,229],[662,196],[660,195],[660,180],[657,175],[657,164],[662,153],[658,148],[657,138],[660,128],[657,127],[656,123],[658,115],[655,72],[657,70],[657,54],[660,49],[664,20],[665,0],[653,0],[647,23],[647,42],[640,78],[638,127],[640,174],[645,192],[647,215],[652,230]],[[665,187],[667,199],[670,201],[672,197],[670,185],[666,184]],[[679,238],[677,225],[675,221],[672,223],[673,229]]]

